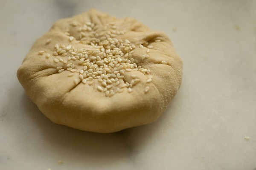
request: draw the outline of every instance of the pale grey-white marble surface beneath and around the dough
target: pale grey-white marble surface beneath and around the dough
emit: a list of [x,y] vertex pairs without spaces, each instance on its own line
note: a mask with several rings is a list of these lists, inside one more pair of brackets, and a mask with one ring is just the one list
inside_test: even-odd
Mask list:
[[[33,42],[90,8],[165,31],[182,57],[156,122],[111,134],[56,125],[17,81]],[[6,0],[0,13],[0,170],[256,170],[255,0]]]

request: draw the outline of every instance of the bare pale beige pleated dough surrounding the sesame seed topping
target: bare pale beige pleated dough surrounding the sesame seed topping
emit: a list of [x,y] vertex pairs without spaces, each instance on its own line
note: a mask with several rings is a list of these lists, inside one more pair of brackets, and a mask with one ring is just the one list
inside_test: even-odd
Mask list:
[[[105,25],[112,24],[110,26],[113,26],[114,30],[123,31],[123,34],[116,35],[116,39],[129,40],[130,44],[136,46],[132,54],[134,63],[150,69],[151,72],[143,74],[136,70],[125,71],[125,82],[131,82],[131,75],[140,79],[140,82],[131,88],[131,92],[128,88],[122,88],[122,92],[106,96],[104,92],[97,90],[100,86],[98,79],[93,79],[93,84],[89,85],[89,81],[86,84],[81,82],[77,72],[68,76],[71,74],[67,70],[68,63],[73,62],[76,69],[82,69],[78,59],[68,60],[71,54],[63,57],[53,54],[57,43],[60,46],[72,45],[77,49],[91,48],[92,45],[80,41],[81,27],[88,22],[96,26],[95,31],[98,34],[104,30]],[[88,40],[93,40],[93,37],[88,37],[90,31],[82,32]],[[74,40],[70,41],[70,36],[73,36]],[[139,47],[146,42],[148,48]],[[145,54],[150,57],[143,60],[142,56]],[[65,59],[67,63],[56,63],[55,58]],[[162,64],[165,62],[167,64]],[[58,73],[58,66],[63,67],[64,71]],[[146,82],[150,76],[152,81]],[[163,113],[180,87],[182,61],[163,32],[153,31],[129,17],[118,19],[91,10],[57,21],[49,32],[32,46],[17,71],[17,77],[29,98],[52,122],[80,130],[111,133],[154,122]],[[74,79],[78,80],[77,85]],[[147,86],[149,90],[145,92]]]

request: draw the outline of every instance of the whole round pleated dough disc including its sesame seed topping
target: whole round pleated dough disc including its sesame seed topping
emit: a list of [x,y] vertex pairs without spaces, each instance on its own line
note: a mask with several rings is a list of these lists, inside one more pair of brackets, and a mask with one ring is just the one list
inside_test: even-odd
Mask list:
[[52,122],[112,133],[163,113],[180,87],[182,61],[163,32],[90,10],[58,20],[32,46],[17,77]]

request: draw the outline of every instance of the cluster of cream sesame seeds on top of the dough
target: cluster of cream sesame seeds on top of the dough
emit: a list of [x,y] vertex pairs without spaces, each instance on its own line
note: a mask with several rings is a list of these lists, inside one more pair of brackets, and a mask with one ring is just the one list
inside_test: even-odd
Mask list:
[[[70,35],[67,31],[68,41],[83,44],[85,47],[76,48],[73,45],[55,44],[52,54],[45,54],[48,59],[53,56],[52,62],[61,63],[56,67],[58,74],[69,71],[68,77],[74,77],[74,84],[93,85],[98,81],[96,89],[107,97],[111,97],[116,93],[121,93],[127,88],[128,93],[132,93],[135,85],[140,83],[140,79],[132,74],[133,71],[140,71],[147,75],[147,83],[151,83],[152,76],[150,69],[141,67],[134,60],[134,50],[136,48],[146,48],[146,53],[140,56],[141,60],[150,57],[150,49],[152,45],[148,42],[135,45],[129,40],[118,39],[119,35],[125,34],[117,29],[114,23],[97,26],[94,23],[87,22],[79,25],[77,22],[70,23],[72,27],[76,27],[79,32],[77,39]],[[160,42],[161,40],[155,40]],[[46,44],[50,44],[52,39],[48,39]],[[44,55],[44,51],[38,51],[38,55]],[[50,58],[49,58],[50,59]],[[162,61],[162,64],[167,62]],[[130,82],[125,81],[125,72],[131,77]],[[78,76],[74,76],[78,75]],[[144,92],[149,91],[149,86],[145,85]]]

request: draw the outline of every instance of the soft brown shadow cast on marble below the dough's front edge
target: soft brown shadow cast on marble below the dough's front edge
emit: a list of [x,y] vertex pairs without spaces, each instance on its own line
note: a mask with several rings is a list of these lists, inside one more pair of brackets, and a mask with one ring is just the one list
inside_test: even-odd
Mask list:
[[[32,122],[38,126],[40,135],[47,142],[48,150],[70,155],[79,163],[102,166],[121,160],[134,162],[140,146],[151,136],[150,125],[133,127],[116,133],[93,133],[73,129],[51,122],[23,92],[20,107]],[[29,121],[30,122],[30,121]],[[37,128],[37,127],[35,127]],[[65,156],[64,156],[65,157]],[[84,158],[84,159],[82,159]],[[90,161],[88,161],[88,159]],[[101,162],[101,164],[99,164]],[[105,162],[105,163],[104,163]]]

